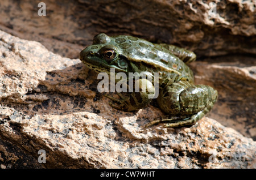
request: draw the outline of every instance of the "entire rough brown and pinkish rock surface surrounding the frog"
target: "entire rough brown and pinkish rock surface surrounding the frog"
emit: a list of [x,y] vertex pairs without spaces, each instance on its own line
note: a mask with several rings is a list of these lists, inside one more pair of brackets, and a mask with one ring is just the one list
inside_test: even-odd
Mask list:
[[[0,0],[0,29],[49,50],[0,31],[0,168],[255,168],[255,1],[43,2]],[[100,32],[195,51],[219,93],[208,118],[147,129],[158,108],[111,108],[77,59]]]

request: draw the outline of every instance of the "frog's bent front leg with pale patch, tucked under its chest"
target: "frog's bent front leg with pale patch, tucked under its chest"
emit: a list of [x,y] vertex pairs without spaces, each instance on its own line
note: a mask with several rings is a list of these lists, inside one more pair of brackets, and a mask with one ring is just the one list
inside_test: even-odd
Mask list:
[[[135,92],[135,85],[138,85],[139,92]],[[152,95],[155,93],[154,85],[147,79],[138,79],[134,83],[134,88],[133,92],[128,93],[128,95],[125,95],[125,93],[117,93],[119,98],[115,98],[109,95],[105,95],[105,97],[108,97],[110,100],[112,100],[109,102],[109,104],[113,108],[125,110],[128,112],[142,109],[150,104]]]

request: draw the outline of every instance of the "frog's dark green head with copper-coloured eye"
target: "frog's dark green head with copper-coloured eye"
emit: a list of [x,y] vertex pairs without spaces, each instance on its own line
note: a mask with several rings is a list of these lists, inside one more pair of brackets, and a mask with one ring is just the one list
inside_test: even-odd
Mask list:
[[110,73],[110,68],[115,72],[128,72],[128,61],[122,55],[113,37],[100,33],[93,39],[93,45],[80,52],[79,59],[86,66],[97,72]]

